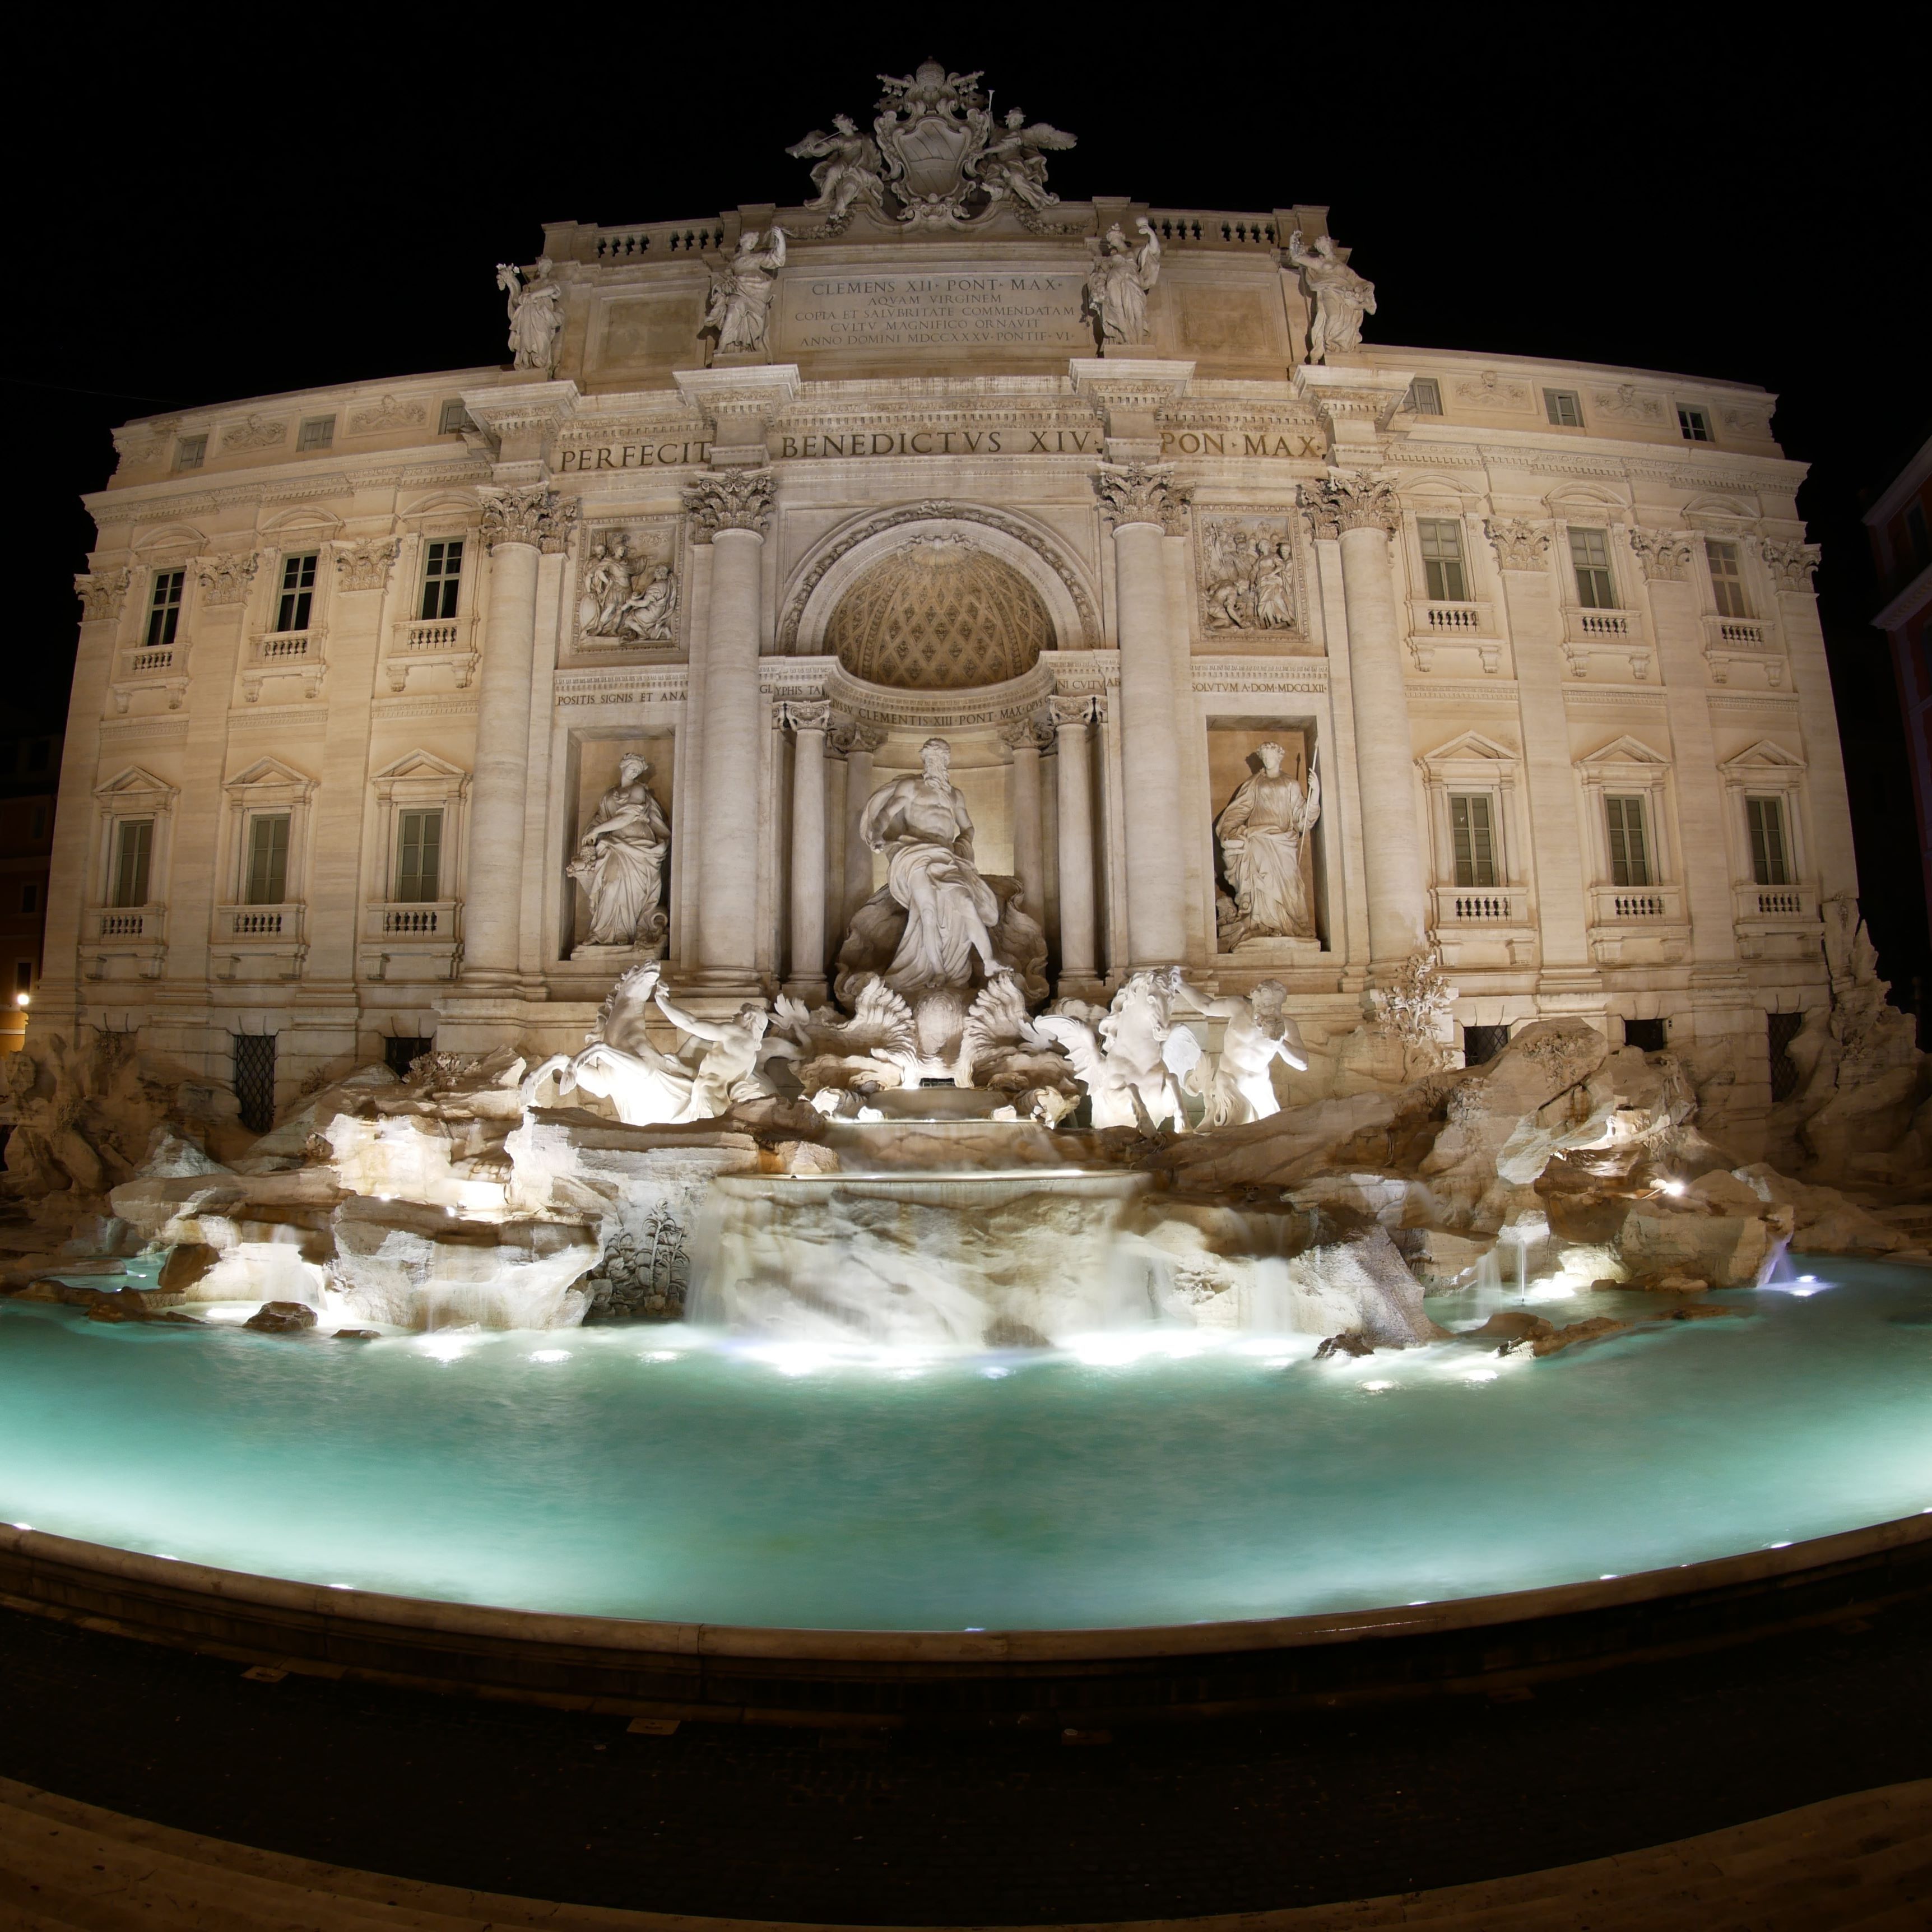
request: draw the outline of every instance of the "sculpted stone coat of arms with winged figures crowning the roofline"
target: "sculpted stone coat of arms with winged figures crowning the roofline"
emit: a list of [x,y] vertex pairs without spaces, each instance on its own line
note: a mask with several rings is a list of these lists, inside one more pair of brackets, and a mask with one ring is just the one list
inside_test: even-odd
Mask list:
[[1010,203],[1034,226],[1059,201],[1047,189],[1045,156],[1072,147],[1070,133],[1028,122],[1020,108],[997,122],[980,75],[949,73],[937,60],[879,81],[885,93],[869,135],[838,114],[831,133],[813,129],[786,149],[817,162],[817,199],[806,207],[825,214],[827,232],[844,228],[860,207],[910,226],[958,228]]

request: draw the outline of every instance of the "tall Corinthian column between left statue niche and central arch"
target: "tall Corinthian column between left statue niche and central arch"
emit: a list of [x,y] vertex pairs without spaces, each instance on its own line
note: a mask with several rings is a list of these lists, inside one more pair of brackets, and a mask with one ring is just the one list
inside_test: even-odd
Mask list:
[[697,786],[697,970],[721,993],[755,993],[757,753],[763,736],[757,653],[771,471],[703,475],[684,493],[684,506],[692,541],[711,545]]

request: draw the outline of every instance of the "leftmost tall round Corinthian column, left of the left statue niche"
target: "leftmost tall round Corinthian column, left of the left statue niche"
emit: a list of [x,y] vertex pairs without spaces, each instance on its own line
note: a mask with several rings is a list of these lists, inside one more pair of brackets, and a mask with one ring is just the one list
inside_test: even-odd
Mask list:
[[483,543],[491,562],[464,906],[464,981],[469,985],[516,983],[537,554],[562,551],[576,518],[576,498],[558,497],[547,485],[483,491]]

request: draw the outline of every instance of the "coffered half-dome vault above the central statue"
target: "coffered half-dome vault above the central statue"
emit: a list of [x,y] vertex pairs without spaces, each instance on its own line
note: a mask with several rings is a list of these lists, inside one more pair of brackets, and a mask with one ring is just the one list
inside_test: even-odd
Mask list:
[[825,649],[852,676],[902,692],[1005,684],[1053,645],[1053,618],[1034,585],[952,535],[912,537],[869,564],[825,628]]

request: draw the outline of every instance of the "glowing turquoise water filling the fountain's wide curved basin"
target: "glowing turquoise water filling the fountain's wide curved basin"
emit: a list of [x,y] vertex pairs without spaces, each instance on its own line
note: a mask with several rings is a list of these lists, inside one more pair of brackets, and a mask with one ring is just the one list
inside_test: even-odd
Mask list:
[[[1047,1629],[1410,1604],[1932,1507],[1932,1273],[1818,1262],[1544,1362],[1148,1329],[837,1358],[688,1329],[352,1345],[0,1302],[0,1519],[527,1609]],[[1509,1294],[1434,1298],[1468,1325]],[[1656,1296],[1534,1304],[1656,1316]]]

